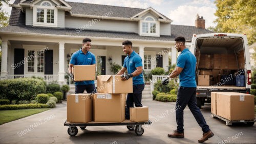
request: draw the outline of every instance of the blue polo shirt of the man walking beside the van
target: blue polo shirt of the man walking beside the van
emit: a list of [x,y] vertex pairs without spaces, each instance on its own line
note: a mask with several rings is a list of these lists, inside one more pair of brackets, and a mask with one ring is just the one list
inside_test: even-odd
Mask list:
[[177,67],[183,68],[180,73],[180,86],[196,88],[196,56],[185,48],[177,59]]

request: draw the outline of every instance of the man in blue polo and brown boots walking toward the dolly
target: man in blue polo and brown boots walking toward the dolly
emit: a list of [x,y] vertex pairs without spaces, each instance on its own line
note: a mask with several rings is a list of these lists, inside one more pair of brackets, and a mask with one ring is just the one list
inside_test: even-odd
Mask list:
[[184,137],[183,129],[183,110],[188,105],[188,108],[193,113],[197,123],[202,128],[203,137],[198,142],[204,142],[208,138],[214,136],[209,126],[206,124],[203,114],[197,107],[196,98],[196,56],[191,53],[185,46],[185,38],[177,37],[175,39],[175,47],[178,52],[181,51],[177,59],[176,69],[166,78],[162,80],[162,84],[168,84],[168,80],[180,75],[180,87],[178,89],[177,101],[176,101],[176,123],[177,130],[168,134],[169,137]]

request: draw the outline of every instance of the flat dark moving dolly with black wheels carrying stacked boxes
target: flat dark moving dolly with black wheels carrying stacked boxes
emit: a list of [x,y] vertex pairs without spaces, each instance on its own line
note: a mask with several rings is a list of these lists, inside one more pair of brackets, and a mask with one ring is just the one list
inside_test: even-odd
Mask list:
[[137,135],[142,135],[144,133],[144,129],[142,128],[142,125],[150,125],[152,124],[151,121],[145,121],[145,122],[131,122],[130,120],[125,120],[121,123],[116,122],[89,122],[89,123],[71,123],[67,122],[67,120],[64,123],[64,126],[68,126],[68,134],[70,136],[75,136],[78,133],[77,127],[80,127],[80,129],[84,130],[88,126],[126,126],[129,130],[135,130],[135,133]]

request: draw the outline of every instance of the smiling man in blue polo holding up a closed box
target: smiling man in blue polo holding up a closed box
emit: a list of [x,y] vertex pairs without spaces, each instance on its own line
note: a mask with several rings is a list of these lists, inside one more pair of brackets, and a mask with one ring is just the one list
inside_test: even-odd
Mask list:
[[[69,63],[69,73],[73,80],[74,80],[74,75],[73,75],[72,67],[74,65],[95,65],[96,64],[95,55],[89,51],[92,47],[91,42],[92,40],[89,38],[83,39],[82,48],[77,50],[71,56],[71,60]],[[84,74],[86,74],[86,72],[84,72]],[[84,90],[86,90],[87,93],[96,93],[97,90],[95,89],[94,80],[75,81],[75,93],[76,94],[83,93]]]

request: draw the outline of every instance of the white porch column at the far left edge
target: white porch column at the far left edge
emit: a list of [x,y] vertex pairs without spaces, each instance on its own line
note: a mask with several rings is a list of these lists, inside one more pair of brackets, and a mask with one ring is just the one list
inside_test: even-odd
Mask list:
[[8,41],[2,41],[2,63],[1,63],[1,79],[7,79],[7,57],[8,57]]

